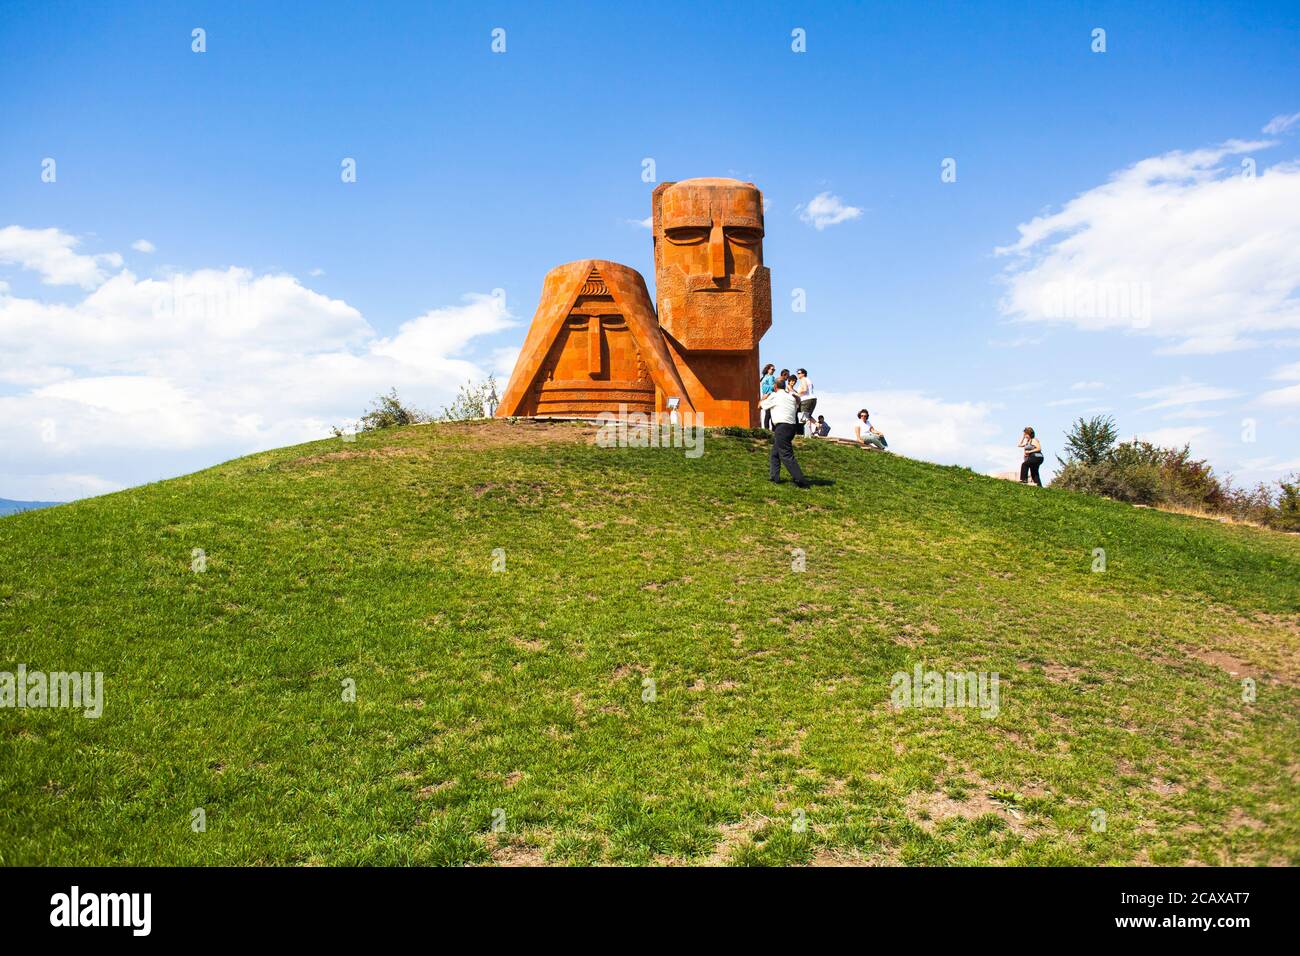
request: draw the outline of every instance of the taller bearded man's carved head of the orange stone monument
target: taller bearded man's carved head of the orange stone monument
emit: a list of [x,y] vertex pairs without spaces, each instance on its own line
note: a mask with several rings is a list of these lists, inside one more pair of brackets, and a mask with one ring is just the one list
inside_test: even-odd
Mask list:
[[737,179],[654,191],[659,323],[693,351],[749,351],[772,324],[763,194]]

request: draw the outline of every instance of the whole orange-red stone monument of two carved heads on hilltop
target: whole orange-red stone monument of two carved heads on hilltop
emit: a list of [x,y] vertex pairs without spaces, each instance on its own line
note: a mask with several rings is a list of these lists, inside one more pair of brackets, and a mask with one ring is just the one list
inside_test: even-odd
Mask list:
[[654,191],[655,313],[636,269],[582,259],[546,274],[498,416],[699,412],[758,427],[758,341],[772,325],[763,194],[736,179]]

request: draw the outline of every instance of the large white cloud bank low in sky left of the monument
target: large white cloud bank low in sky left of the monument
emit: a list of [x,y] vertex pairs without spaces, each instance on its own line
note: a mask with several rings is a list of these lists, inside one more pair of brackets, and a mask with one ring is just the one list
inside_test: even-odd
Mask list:
[[[485,375],[474,339],[514,324],[504,298],[474,294],[381,337],[342,299],[240,268],[124,269],[75,303],[0,289],[0,445],[27,475],[0,497],[75,497],[58,475],[109,489],[322,438],[394,386],[437,411]],[[42,472],[46,490],[30,481]]]

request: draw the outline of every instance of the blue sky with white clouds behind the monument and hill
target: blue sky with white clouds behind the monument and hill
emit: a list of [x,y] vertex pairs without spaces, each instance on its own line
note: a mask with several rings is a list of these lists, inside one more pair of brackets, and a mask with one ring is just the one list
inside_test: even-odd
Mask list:
[[[1052,460],[1104,410],[1240,479],[1300,470],[1297,4],[10,0],[0,88],[4,497],[508,373],[552,265],[653,284],[647,157],[764,191],[763,358],[840,433],[868,403],[897,450],[997,471],[1023,425]],[[147,308],[177,276],[256,317]],[[1149,308],[1044,313],[1066,280]]]

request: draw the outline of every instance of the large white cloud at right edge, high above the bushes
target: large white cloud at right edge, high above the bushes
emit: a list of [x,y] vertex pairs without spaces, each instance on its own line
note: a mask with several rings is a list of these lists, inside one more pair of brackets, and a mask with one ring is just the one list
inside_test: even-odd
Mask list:
[[1164,338],[1212,354],[1300,329],[1300,164],[1248,178],[1231,140],[1115,173],[1058,212],[1018,226],[1002,311]]

